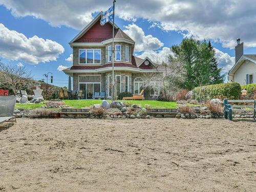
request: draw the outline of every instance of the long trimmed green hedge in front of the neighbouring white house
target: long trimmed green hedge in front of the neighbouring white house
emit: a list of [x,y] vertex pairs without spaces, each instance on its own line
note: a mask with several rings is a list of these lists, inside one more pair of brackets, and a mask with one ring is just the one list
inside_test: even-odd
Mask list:
[[[202,92],[202,99],[239,99],[241,96],[241,86],[238,82],[228,82],[220,84],[211,84],[204,86],[204,92]],[[201,87],[193,89],[193,99],[200,99]]]

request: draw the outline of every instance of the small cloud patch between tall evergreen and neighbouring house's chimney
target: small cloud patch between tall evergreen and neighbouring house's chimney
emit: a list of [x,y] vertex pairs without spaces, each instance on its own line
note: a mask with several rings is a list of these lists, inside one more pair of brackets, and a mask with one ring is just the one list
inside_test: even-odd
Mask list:
[[215,50],[215,57],[218,60],[218,66],[222,67],[223,73],[227,73],[234,65],[234,57],[230,57],[229,54],[223,53],[222,51],[214,48]]

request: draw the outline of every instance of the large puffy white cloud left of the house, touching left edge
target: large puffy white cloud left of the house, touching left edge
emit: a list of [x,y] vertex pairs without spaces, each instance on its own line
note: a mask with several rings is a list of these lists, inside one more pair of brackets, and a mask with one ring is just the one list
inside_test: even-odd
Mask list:
[[64,48],[55,41],[37,36],[27,38],[0,24],[0,55],[11,60],[23,60],[37,65],[39,62],[56,60]]

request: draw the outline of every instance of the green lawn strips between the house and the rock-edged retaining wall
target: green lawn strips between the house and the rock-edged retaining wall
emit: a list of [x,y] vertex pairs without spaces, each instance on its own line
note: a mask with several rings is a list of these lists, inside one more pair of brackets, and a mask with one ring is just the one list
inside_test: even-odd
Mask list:
[[[102,100],[63,100],[66,105],[70,105],[73,108],[86,108],[92,106],[93,104],[100,104]],[[110,100],[108,100],[110,102]],[[155,100],[126,100],[125,102],[129,104],[139,104],[143,108],[177,108],[177,103],[175,101],[155,101]],[[20,104],[16,103],[15,108],[22,108],[22,109],[36,109],[40,108],[41,105],[45,105],[45,103],[26,103]]]

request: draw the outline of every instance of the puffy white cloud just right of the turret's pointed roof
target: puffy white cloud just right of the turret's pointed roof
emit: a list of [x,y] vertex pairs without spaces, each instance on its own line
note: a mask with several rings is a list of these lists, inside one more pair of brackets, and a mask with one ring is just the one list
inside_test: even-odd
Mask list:
[[163,43],[158,38],[152,35],[145,35],[144,31],[135,24],[124,26],[124,28],[123,32],[136,42],[135,51],[157,50],[163,46]]

